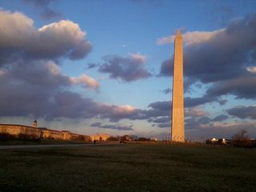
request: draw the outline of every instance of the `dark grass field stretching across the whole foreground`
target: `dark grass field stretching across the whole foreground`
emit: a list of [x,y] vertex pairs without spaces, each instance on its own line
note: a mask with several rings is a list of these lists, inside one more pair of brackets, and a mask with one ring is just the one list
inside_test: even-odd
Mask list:
[[0,191],[255,191],[256,150],[110,145],[0,150]]

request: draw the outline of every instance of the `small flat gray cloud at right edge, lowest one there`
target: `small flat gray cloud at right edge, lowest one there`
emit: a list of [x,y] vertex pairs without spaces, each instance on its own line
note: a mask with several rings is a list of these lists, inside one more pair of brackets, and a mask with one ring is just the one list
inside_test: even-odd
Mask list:
[[237,118],[256,119],[256,106],[236,106],[226,111]]

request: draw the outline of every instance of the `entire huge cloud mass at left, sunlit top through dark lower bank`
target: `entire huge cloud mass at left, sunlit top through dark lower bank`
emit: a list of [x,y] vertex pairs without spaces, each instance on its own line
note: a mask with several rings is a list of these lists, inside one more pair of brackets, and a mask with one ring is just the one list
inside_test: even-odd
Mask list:
[[97,89],[98,82],[86,74],[69,77],[61,71],[61,58],[83,58],[90,51],[78,24],[60,21],[37,30],[26,15],[4,10],[0,22],[0,116],[52,120],[103,113],[103,104],[70,91],[74,85]]

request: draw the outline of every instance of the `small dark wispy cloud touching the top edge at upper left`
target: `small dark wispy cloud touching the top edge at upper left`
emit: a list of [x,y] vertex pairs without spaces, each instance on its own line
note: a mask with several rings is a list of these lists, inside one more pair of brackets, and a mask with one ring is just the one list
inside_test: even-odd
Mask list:
[[53,10],[50,8],[51,2],[56,2],[56,0],[22,0],[26,4],[34,6],[40,12],[40,17],[43,19],[53,19],[60,18],[62,15],[58,10]]

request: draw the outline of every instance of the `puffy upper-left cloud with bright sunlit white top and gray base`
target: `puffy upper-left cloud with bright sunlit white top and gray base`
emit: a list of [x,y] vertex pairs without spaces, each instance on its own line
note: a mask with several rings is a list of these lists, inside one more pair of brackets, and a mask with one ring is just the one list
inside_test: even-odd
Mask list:
[[26,15],[0,10],[0,22],[0,49],[5,57],[79,59],[92,49],[85,39],[86,32],[69,20],[53,22],[37,30]]

